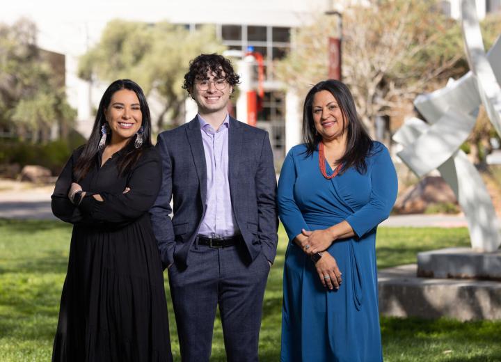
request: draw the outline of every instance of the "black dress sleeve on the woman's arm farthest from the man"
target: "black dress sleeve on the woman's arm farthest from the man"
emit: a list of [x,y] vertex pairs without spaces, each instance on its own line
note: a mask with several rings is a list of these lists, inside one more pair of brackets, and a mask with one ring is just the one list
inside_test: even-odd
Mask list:
[[51,196],[52,213],[54,214],[54,216],[67,223],[77,223],[83,220],[82,214],[78,207],[75,207],[75,205],[73,205],[70,202],[70,199],[67,197],[68,191],[70,191],[71,184],[72,182],[74,182],[73,167],[77,162],[81,150],[83,150],[83,148],[77,148],[77,150],[74,150],[72,156],[66,162],[63,171],[56,181],[54,193]]

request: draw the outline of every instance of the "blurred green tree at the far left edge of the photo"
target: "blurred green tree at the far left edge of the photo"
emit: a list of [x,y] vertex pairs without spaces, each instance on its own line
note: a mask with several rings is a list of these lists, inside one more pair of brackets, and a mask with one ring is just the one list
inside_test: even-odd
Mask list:
[[66,101],[63,76],[37,47],[36,32],[28,19],[0,24],[0,127],[46,142],[51,127],[71,125],[76,112]]

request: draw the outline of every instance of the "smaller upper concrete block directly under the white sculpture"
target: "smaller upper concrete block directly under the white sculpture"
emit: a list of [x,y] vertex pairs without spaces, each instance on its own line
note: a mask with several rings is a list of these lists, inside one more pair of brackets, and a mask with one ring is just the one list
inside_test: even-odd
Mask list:
[[501,251],[448,248],[417,253],[417,276],[501,281]]

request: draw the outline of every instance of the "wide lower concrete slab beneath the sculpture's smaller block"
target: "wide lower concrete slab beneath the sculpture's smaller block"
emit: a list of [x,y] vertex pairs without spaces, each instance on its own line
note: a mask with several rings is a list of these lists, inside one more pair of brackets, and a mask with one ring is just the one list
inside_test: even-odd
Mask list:
[[379,272],[379,313],[394,317],[501,320],[501,282],[420,278],[417,265]]

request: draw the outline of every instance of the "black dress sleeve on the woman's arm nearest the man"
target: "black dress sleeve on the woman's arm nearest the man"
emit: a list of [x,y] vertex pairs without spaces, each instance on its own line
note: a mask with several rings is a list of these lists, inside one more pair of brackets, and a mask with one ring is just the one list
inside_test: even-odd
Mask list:
[[87,221],[125,226],[150,210],[160,189],[161,164],[156,152],[145,151],[131,171],[127,194],[99,192],[104,201],[86,196],[79,209]]

